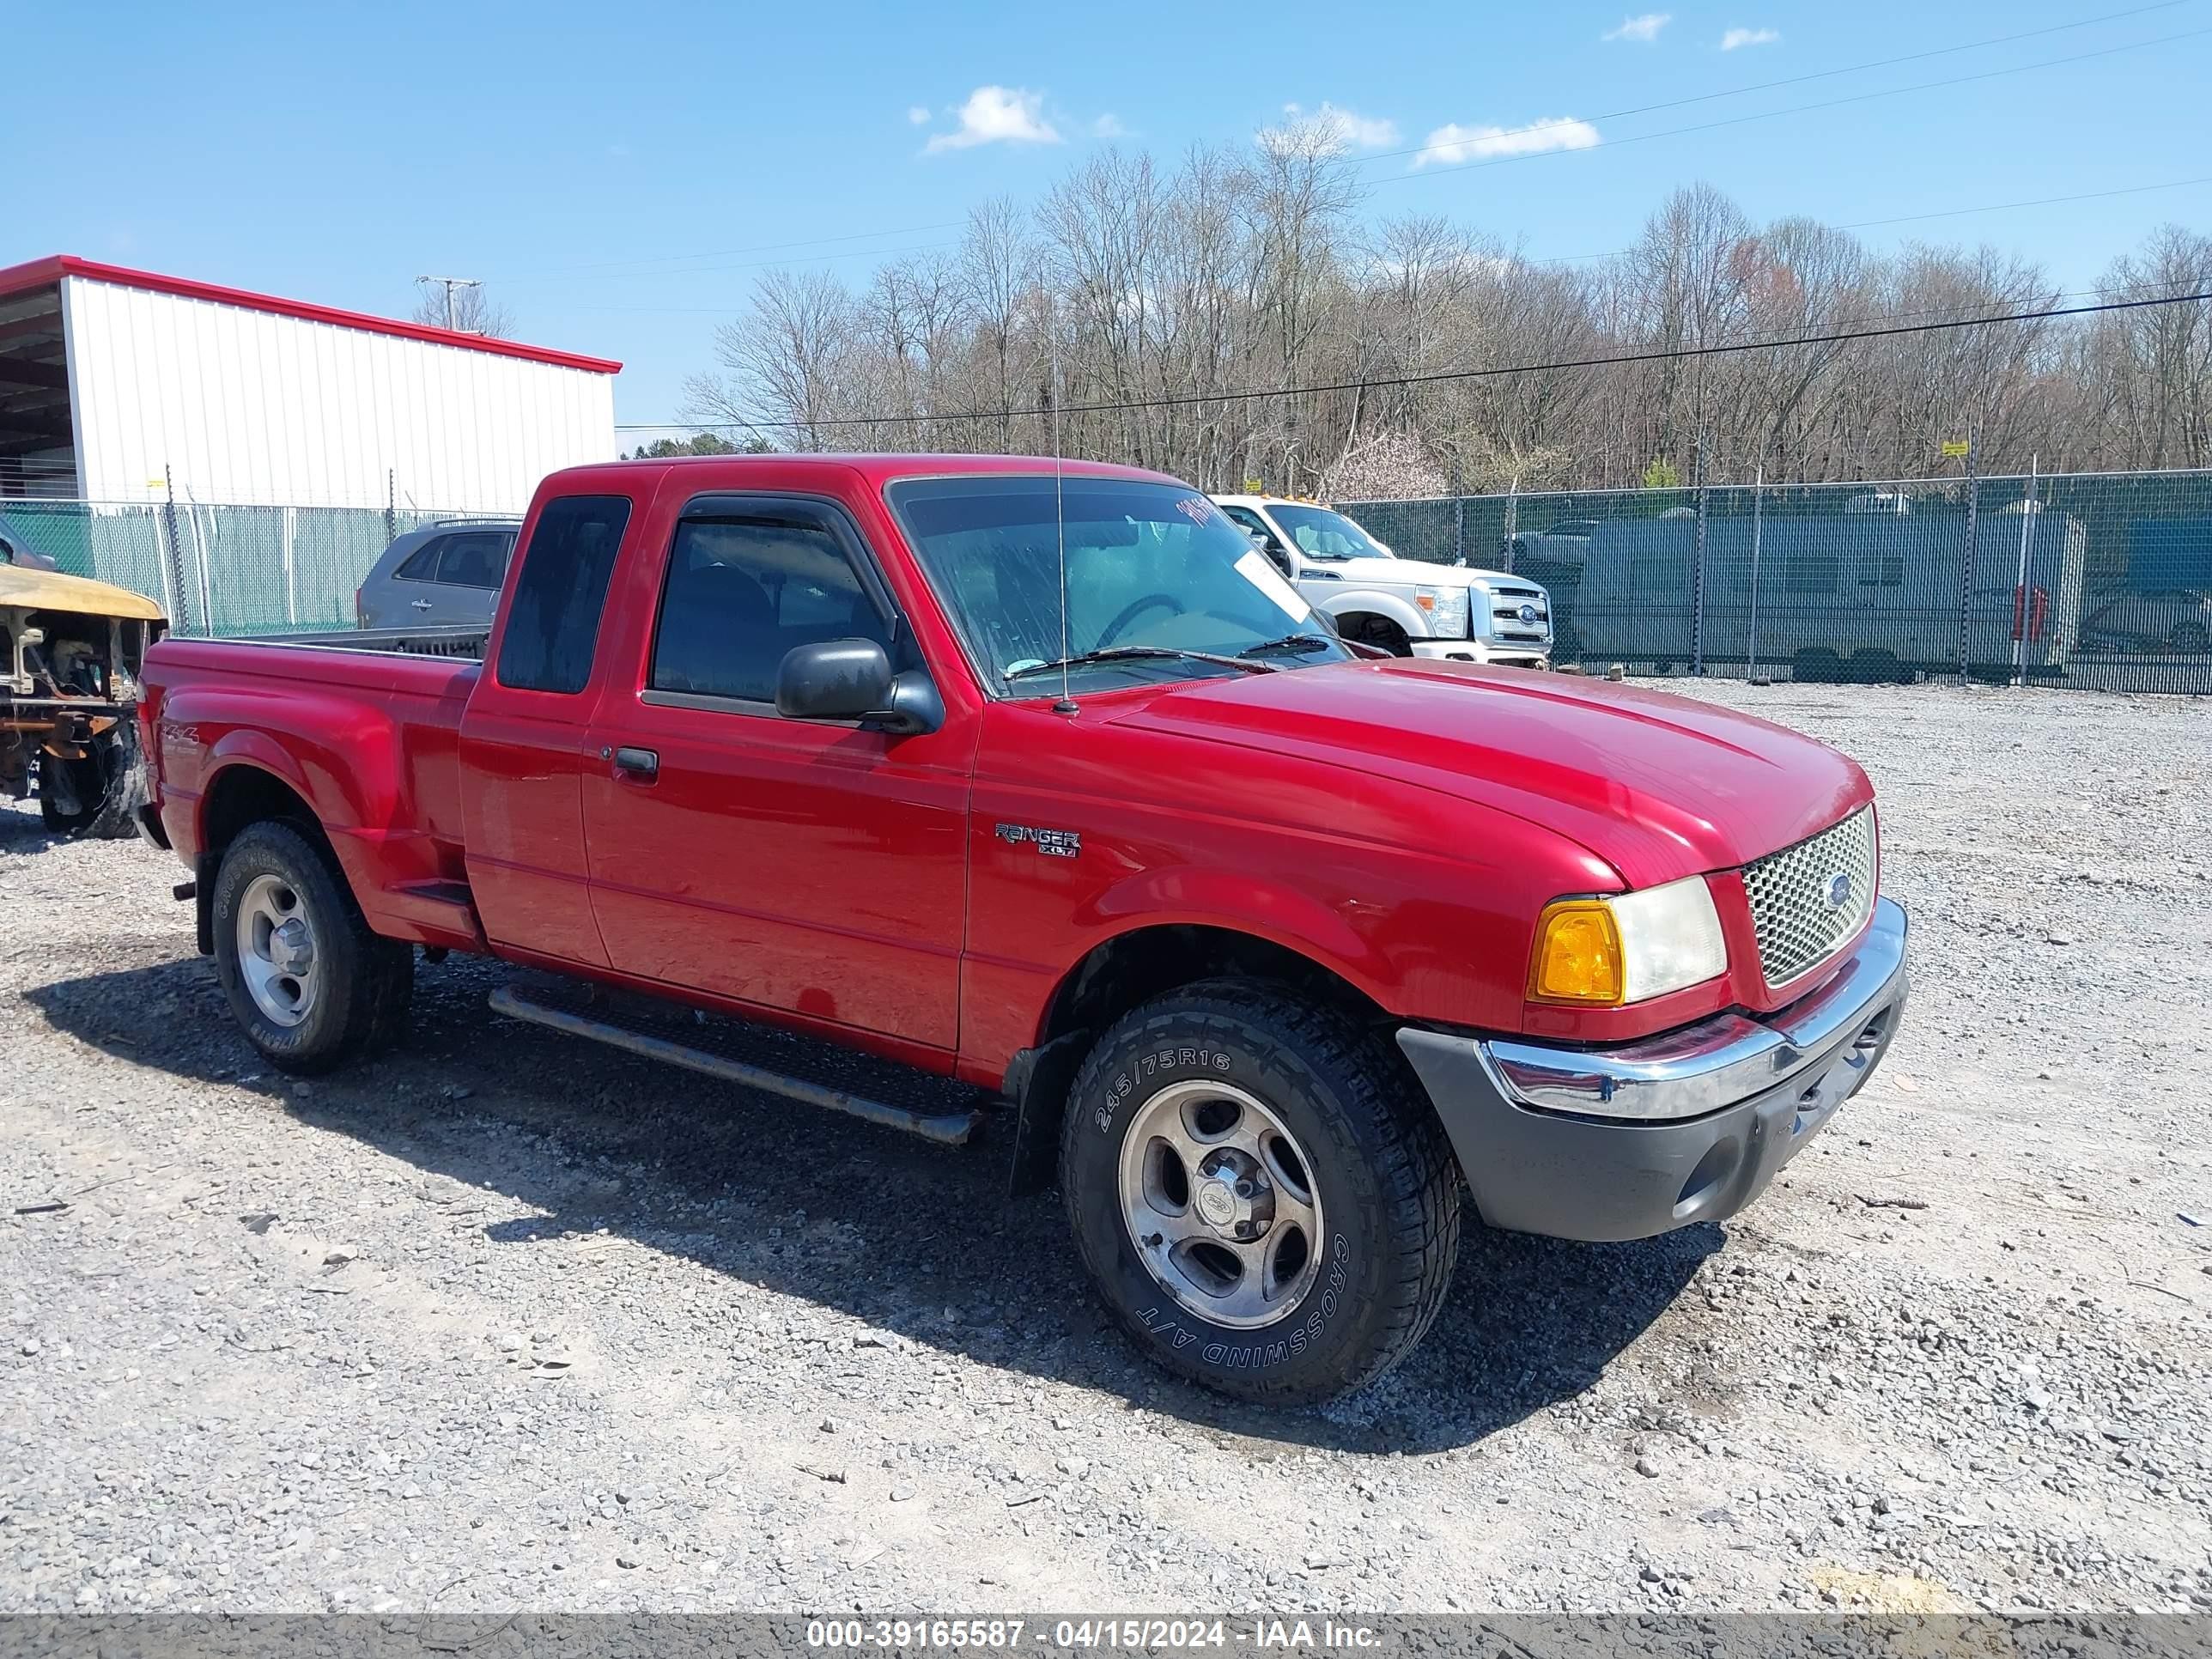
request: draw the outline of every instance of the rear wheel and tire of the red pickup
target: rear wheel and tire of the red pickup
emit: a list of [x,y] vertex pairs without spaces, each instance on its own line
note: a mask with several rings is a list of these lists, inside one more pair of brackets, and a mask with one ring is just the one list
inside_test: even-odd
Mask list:
[[[276,931],[294,918],[299,931]],[[257,927],[265,949],[248,945]],[[305,1077],[398,1037],[414,951],[369,931],[327,847],[265,818],[230,843],[215,876],[215,978],[261,1057]]]

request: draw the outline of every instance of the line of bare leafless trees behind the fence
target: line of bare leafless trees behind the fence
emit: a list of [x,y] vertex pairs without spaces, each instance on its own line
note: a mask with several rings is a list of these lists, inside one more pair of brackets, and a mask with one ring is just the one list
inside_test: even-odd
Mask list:
[[[688,418],[814,447],[1044,451],[1057,429],[1068,453],[1208,487],[1343,495],[1913,478],[1953,438],[1984,471],[2212,465],[2205,303],[1845,338],[2057,294],[1986,248],[1874,254],[1809,219],[1756,226],[1710,186],[1588,263],[1363,208],[1332,122],[1172,170],[1099,150],[1033,210],[975,208],[949,257],[858,290],[763,276]],[[2212,239],[2179,228],[2106,279],[2208,285]]]

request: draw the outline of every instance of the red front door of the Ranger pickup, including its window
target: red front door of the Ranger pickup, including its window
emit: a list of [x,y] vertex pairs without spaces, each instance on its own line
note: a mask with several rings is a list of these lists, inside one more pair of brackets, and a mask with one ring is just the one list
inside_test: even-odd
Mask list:
[[684,507],[633,672],[584,748],[591,902],[622,973],[927,1048],[960,1037],[973,732],[776,712],[792,646],[911,661],[860,531],[818,498]]

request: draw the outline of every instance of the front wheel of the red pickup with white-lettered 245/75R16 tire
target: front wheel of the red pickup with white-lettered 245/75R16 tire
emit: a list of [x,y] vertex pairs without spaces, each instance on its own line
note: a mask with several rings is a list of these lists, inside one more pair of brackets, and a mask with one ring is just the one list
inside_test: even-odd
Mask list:
[[[1228,1170],[1256,1175],[1239,1188],[1256,1188],[1248,1203],[1272,1217],[1256,1241],[1223,1243],[1221,1225],[1256,1223],[1223,1219],[1239,1199],[1217,1190],[1219,1168],[1192,1170],[1186,1150],[1146,1133],[1175,1124],[1186,1135],[1197,1124],[1214,1161],[1243,1159],[1237,1135],[1259,1130],[1272,1161]],[[1332,1009],[1239,980],[1175,991],[1099,1040],[1068,1093],[1060,1186],[1084,1265],[1137,1345],[1177,1376],[1265,1405],[1329,1400],[1405,1358],[1444,1303],[1460,1243],[1458,1168],[1398,1053]],[[1228,1263],[1237,1292],[1221,1290]]]

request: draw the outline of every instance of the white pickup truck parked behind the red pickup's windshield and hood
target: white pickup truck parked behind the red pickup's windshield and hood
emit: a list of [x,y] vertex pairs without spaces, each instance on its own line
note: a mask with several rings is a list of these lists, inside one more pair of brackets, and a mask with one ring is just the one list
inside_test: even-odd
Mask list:
[[1214,495],[1345,639],[1398,657],[1551,668],[1551,595],[1506,571],[1400,560],[1349,518],[1281,495]]

